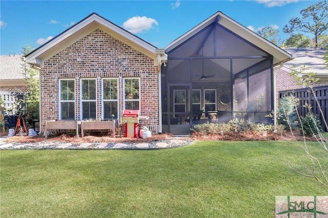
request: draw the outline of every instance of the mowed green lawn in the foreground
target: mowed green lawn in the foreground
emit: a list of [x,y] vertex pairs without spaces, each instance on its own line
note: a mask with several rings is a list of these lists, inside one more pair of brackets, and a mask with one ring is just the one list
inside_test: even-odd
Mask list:
[[[159,150],[1,150],[1,217],[274,217],[277,195],[327,195],[293,171],[302,142]],[[326,152],[308,143],[327,169]]]

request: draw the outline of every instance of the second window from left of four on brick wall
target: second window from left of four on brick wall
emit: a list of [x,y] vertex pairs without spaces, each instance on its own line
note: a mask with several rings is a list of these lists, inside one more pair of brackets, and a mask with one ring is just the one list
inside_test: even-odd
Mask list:
[[81,112],[82,119],[96,117],[96,79],[81,79]]

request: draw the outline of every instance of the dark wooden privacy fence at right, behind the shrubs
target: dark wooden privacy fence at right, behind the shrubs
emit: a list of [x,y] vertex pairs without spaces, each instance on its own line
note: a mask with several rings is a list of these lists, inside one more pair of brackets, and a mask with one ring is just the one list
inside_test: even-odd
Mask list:
[[[324,120],[328,121],[328,86],[317,86],[314,87],[313,90],[314,93],[311,93],[310,88],[280,91],[279,99],[282,98],[284,94],[293,94],[300,100],[297,110],[302,117],[304,117],[309,112],[308,107],[304,107],[303,105],[306,103],[310,104],[312,106],[312,112],[317,114],[321,121],[322,129],[324,132],[328,132],[328,129],[324,124]],[[317,96],[318,103],[316,102],[314,95]],[[323,116],[320,113],[320,107],[323,112]]]

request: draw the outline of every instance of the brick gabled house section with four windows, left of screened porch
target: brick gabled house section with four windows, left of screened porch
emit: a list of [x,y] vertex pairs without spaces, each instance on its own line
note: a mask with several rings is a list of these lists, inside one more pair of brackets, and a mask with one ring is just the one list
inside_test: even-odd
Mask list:
[[40,71],[46,120],[112,120],[140,110],[159,132],[158,64],[163,51],[93,13],[28,54]]

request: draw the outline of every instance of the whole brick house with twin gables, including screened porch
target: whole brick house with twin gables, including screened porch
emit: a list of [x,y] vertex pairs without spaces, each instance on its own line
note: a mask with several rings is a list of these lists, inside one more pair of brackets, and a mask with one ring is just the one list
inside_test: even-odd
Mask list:
[[[270,112],[274,69],[291,59],[221,12],[164,49],[92,13],[26,55],[40,71],[41,130],[46,120],[118,119],[136,109],[153,133],[254,113],[247,107],[261,93],[261,113]],[[253,87],[255,75],[270,84]]]

